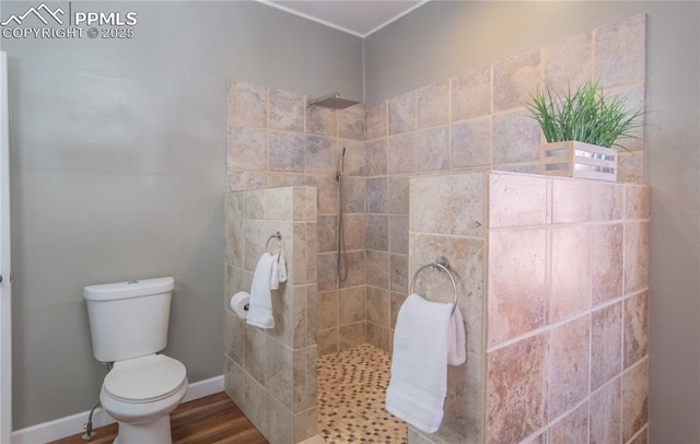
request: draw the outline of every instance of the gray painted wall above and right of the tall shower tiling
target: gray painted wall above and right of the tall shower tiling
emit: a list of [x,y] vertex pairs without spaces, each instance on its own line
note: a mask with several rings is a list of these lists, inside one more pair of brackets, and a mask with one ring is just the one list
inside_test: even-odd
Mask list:
[[652,443],[700,443],[700,3],[430,2],[365,39],[376,103],[648,14]]

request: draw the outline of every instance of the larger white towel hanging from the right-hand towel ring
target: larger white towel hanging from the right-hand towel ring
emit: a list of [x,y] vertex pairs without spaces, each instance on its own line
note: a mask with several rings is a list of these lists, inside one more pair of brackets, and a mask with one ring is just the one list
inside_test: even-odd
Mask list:
[[[411,294],[398,313],[394,334],[392,378],[386,390],[386,409],[416,428],[434,433],[444,414],[447,394],[447,355],[455,349],[453,360],[466,354],[465,342],[450,344],[452,304],[429,302]],[[457,313],[455,308],[454,313]],[[456,318],[452,316],[456,327]],[[454,338],[462,337],[458,329]],[[465,351],[458,352],[457,349]]]

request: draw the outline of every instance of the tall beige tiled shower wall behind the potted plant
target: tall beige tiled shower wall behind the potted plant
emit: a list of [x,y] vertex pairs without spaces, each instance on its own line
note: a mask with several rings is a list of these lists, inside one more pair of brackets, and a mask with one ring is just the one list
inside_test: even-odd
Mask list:
[[[632,107],[643,106],[643,14],[368,106],[371,343],[390,350],[396,314],[408,291],[409,179],[468,170],[536,173],[544,139],[523,104],[544,84],[565,91],[592,79],[607,93],[627,94]],[[620,151],[620,182],[642,183],[641,129],[638,136],[623,141],[629,151]],[[423,211],[410,207],[410,218]]]

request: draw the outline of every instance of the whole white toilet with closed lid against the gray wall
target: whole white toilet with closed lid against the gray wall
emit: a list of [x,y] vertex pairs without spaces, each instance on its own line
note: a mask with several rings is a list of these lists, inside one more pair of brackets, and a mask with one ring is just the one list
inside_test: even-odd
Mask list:
[[187,393],[182,362],[158,354],[167,344],[173,278],[88,285],[92,351],[112,363],[100,392],[119,422],[115,443],[172,443],[171,417]]

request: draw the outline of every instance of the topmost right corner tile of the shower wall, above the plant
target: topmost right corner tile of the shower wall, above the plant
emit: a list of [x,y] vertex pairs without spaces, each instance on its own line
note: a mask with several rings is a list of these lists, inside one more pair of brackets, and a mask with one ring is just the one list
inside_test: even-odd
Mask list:
[[595,78],[604,87],[645,79],[645,14],[599,27],[594,31],[593,39]]

